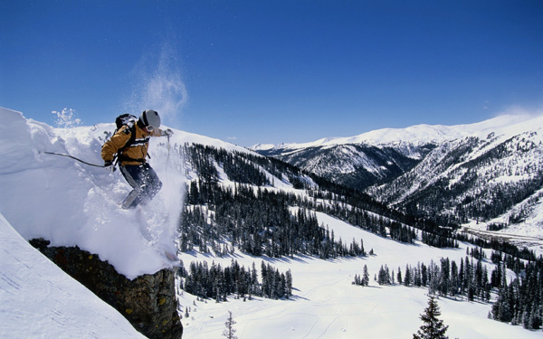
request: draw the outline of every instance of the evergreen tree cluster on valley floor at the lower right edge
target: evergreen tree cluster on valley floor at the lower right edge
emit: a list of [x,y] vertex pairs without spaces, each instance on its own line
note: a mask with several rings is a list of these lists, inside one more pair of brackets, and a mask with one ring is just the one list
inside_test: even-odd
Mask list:
[[[543,257],[523,263],[512,256],[503,256],[493,251],[491,260],[496,267],[489,274],[482,264],[484,251],[478,248],[467,250],[472,259],[466,256],[460,265],[454,260],[443,258],[439,263],[429,265],[418,263],[416,267],[406,265],[404,275],[398,268],[396,282],[405,287],[427,287],[432,295],[443,297],[466,297],[468,300],[490,302],[491,292],[498,295],[492,305],[490,316],[500,322],[522,325],[527,329],[543,326]],[[475,262],[476,260],[476,262]],[[507,283],[507,268],[517,269],[516,278]],[[367,269],[365,267],[365,269]],[[367,272],[365,271],[365,276]],[[490,278],[489,278],[490,276]],[[365,286],[363,278],[355,276],[353,284]],[[379,285],[394,284],[386,265],[381,266],[376,275]]]

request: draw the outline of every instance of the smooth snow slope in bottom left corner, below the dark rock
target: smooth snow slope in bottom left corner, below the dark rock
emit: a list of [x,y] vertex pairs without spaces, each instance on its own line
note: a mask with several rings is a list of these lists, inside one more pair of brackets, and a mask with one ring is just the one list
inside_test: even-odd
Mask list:
[[144,338],[0,214],[1,338]]

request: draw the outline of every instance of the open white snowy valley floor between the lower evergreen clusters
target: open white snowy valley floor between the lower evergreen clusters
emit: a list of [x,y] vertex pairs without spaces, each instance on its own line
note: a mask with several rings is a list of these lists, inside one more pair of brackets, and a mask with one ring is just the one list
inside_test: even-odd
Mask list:
[[[440,250],[424,244],[405,245],[386,240],[375,234],[354,228],[319,213],[322,221],[334,230],[336,237],[349,241],[355,237],[364,240],[367,251],[376,256],[357,259],[321,260],[297,256],[294,259],[264,259],[236,253],[233,257],[214,258],[199,253],[185,253],[185,267],[191,261],[214,261],[223,267],[236,259],[249,268],[252,262],[260,268],[262,259],[281,272],[291,269],[293,297],[291,300],[270,300],[255,297],[243,302],[229,298],[228,302],[197,301],[195,296],[182,293],[181,308],[190,316],[184,317],[184,338],[218,338],[225,328],[228,311],[237,323],[238,338],[410,338],[422,324],[419,315],[427,306],[427,289],[404,286],[379,286],[374,275],[381,265],[402,272],[405,265],[418,262],[429,264],[449,257],[460,262],[465,257],[466,245],[458,250]],[[489,257],[490,257],[490,253]],[[487,262],[487,264],[489,264]],[[370,274],[370,286],[352,285],[354,276],[361,275],[364,265]],[[491,264],[489,264],[491,265]],[[521,326],[502,324],[488,319],[491,304],[478,301],[438,300],[445,325],[449,325],[450,338],[510,339],[543,338],[543,332],[530,332]]]

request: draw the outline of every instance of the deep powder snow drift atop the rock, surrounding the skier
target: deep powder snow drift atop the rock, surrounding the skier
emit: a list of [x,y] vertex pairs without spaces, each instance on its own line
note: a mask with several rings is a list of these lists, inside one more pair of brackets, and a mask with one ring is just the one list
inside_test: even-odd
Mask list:
[[101,165],[101,140],[113,124],[59,129],[5,108],[0,115],[0,212],[24,239],[77,245],[99,254],[127,278],[170,265],[163,252],[176,251],[184,179],[181,159],[167,156],[166,138],[151,139],[150,151],[163,190],[142,211],[124,211],[119,202],[131,188],[119,172],[43,153],[71,154]]

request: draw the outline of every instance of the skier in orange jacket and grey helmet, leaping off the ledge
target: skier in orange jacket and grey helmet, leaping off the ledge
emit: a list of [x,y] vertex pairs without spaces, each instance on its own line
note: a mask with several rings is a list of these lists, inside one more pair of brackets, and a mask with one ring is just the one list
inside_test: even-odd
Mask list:
[[160,116],[152,109],[141,113],[138,121],[124,125],[108,140],[101,149],[106,170],[115,171],[115,155],[120,173],[133,190],[120,204],[123,209],[131,209],[139,203],[147,203],[160,191],[162,182],[153,168],[148,165],[148,146],[150,137],[169,137],[174,132],[160,128]]

